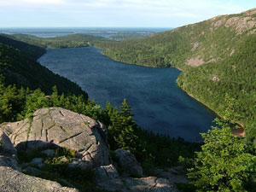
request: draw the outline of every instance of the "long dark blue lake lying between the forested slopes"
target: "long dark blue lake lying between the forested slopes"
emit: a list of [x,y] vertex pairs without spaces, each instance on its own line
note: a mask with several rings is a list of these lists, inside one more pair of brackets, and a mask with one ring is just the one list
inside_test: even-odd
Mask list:
[[79,84],[102,107],[127,99],[137,124],[170,137],[200,141],[216,117],[177,87],[180,71],[128,65],[102,55],[100,49],[48,49],[38,61]]

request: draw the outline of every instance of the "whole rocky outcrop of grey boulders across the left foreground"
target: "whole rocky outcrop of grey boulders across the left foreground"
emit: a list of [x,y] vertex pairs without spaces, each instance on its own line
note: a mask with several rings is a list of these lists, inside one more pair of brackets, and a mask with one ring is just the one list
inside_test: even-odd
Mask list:
[[[115,151],[117,162],[111,160],[107,135],[106,127],[100,122],[63,108],[39,109],[33,113],[31,119],[0,125],[2,191],[78,191],[63,188],[56,182],[32,177],[45,174],[44,166],[49,166],[47,163],[54,160],[59,148],[71,149],[75,152],[72,157],[55,158],[60,164],[67,165],[65,166],[67,172],[76,170],[75,174],[77,174],[79,170],[93,168],[96,191],[102,189],[123,192],[177,191],[167,177],[143,177],[140,163],[133,154],[124,149]],[[39,157],[19,164],[17,150],[25,154],[36,152]],[[123,170],[121,175],[118,169]],[[131,174],[136,174],[138,177],[131,177]],[[66,183],[65,186],[73,186],[68,181]]]

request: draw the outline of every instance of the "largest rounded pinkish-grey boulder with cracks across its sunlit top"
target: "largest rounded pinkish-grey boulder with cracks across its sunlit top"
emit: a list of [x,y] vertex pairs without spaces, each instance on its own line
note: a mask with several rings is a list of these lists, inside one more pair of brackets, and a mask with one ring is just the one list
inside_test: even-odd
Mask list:
[[107,129],[102,123],[64,108],[42,108],[32,119],[0,125],[15,147],[23,150],[71,148],[78,155],[76,167],[110,164]]

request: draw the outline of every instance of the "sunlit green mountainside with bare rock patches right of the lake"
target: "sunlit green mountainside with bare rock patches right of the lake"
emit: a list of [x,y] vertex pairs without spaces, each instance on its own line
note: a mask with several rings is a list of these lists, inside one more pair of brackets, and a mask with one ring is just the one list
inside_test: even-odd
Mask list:
[[[179,67],[177,83],[219,114],[228,94],[232,118],[249,124],[256,113],[256,9],[220,15],[148,38],[103,42],[96,47],[116,61],[151,67]],[[249,130],[249,128],[247,128]]]

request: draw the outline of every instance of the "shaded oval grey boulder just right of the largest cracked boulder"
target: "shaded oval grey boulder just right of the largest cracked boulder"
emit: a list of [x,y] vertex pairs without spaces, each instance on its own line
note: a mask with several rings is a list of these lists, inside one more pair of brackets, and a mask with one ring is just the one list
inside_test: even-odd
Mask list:
[[122,148],[116,149],[115,154],[120,168],[123,168],[130,173],[136,173],[139,176],[143,176],[143,168],[133,154]]

